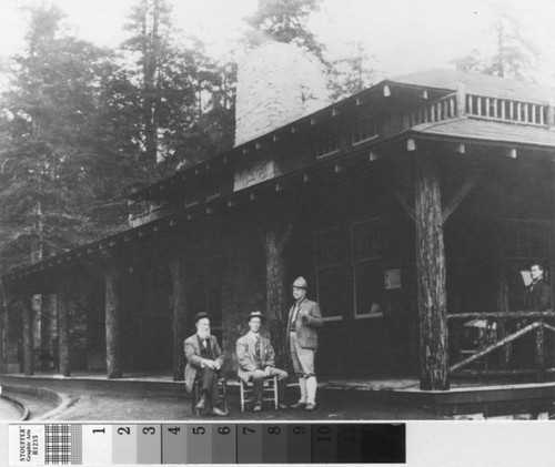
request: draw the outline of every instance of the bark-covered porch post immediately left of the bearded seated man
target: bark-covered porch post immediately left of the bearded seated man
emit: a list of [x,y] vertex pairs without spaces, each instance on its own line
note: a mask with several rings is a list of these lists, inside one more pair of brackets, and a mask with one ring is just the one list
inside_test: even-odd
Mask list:
[[183,260],[170,260],[173,286],[173,380],[184,379],[185,356],[183,351],[184,329],[186,328],[186,298]]

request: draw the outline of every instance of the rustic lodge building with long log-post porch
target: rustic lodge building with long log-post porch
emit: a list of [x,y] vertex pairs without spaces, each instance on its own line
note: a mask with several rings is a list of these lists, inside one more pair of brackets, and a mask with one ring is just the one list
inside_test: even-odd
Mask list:
[[[325,319],[323,377],[414,375],[440,390],[486,370],[545,380],[554,315],[522,296],[531,262],[555,285],[553,95],[434,70],[316,110],[266,119],[273,98],[238,110],[236,145],[134,193],[129,230],[4,274],[1,369],[181,379],[183,339],[206,311],[234,374],[252,311],[284,355],[302,275]],[[465,354],[470,322],[491,338]],[[515,366],[517,351],[529,358]]]

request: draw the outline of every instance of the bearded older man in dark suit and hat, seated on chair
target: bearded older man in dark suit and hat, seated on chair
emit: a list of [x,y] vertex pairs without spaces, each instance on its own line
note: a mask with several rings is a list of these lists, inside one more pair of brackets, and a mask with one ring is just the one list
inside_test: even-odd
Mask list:
[[223,365],[222,349],[218,339],[210,334],[210,318],[206,313],[199,313],[194,317],[196,334],[185,339],[185,388],[189,393],[196,380],[199,387],[200,410],[212,412],[214,415],[226,416],[218,390],[218,379]]

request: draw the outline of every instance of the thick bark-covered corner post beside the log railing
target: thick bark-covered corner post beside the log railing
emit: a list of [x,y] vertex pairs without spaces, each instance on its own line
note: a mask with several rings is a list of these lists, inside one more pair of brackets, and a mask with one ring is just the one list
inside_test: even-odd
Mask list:
[[416,271],[420,317],[420,387],[448,389],[447,294],[440,174],[430,154],[415,171]]

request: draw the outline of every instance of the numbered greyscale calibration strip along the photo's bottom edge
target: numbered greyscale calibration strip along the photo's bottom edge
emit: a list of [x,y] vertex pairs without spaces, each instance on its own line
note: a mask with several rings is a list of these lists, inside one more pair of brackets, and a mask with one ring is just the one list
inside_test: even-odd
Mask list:
[[7,423],[0,466],[555,466],[553,422]]

